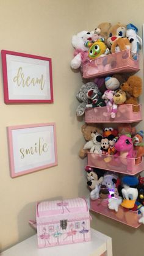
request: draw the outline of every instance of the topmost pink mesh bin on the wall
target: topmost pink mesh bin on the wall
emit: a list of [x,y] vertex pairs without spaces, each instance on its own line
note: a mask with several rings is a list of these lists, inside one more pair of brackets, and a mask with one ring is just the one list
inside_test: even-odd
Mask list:
[[104,57],[89,60],[83,67],[83,78],[109,75],[113,73],[139,71],[139,54],[132,59],[129,49],[112,53]]

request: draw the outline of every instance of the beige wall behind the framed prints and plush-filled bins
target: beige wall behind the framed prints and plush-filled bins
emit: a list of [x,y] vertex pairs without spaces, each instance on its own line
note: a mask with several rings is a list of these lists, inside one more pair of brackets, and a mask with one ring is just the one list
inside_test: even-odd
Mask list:
[[[54,104],[5,105],[0,67],[1,249],[34,234],[28,221],[35,219],[38,200],[88,192],[83,171],[86,162],[77,156],[84,142],[82,120],[75,114],[75,95],[82,79],[70,69],[71,36],[92,30],[102,21],[134,23],[142,35],[143,9],[143,0],[0,0],[1,49],[51,57],[54,88]],[[140,67],[143,78],[142,51]],[[10,178],[6,126],[43,122],[56,122],[58,166]],[[143,128],[143,122],[139,126]],[[114,256],[143,255],[143,227],[134,230],[99,214],[93,214],[92,226],[112,236]]]

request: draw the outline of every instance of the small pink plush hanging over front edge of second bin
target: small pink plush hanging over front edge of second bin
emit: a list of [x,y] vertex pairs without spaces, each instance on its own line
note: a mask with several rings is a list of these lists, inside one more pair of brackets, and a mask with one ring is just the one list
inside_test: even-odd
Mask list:
[[[114,90],[106,90],[103,94],[103,96],[101,98],[103,98],[103,100],[105,101],[106,103],[106,106],[108,107],[112,107],[112,110],[110,112],[110,115],[112,118],[115,118],[115,114],[116,114],[116,109],[117,109],[117,106],[115,103],[113,103],[113,95],[115,94],[115,91]],[[110,108],[111,109],[111,108]],[[105,114],[107,115],[107,114]]]

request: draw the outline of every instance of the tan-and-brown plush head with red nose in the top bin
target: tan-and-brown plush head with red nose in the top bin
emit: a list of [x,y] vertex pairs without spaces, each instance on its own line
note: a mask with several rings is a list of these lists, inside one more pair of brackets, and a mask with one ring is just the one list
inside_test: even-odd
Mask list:
[[107,31],[107,46],[111,48],[113,42],[118,38],[126,37],[126,25],[118,22],[117,24],[111,26]]

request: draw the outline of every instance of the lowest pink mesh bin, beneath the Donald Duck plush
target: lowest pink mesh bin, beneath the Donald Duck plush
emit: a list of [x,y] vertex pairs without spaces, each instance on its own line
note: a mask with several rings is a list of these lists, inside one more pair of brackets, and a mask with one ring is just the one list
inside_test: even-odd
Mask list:
[[129,225],[137,229],[141,224],[139,223],[139,215],[137,211],[131,211],[129,209],[119,207],[118,212],[110,210],[108,208],[108,200],[97,199],[95,201],[90,201],[90,210],[107,216],[115,221],[122,222],[123,224]]

